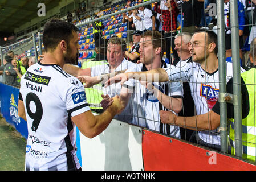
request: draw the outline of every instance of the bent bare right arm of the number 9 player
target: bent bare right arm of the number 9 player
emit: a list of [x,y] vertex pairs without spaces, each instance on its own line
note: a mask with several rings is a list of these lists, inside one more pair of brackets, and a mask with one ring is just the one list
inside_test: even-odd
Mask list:
[[71,119],[83,135],[93,138],[104,131],[113,117],[124,109],[124,104],[121,102],[119,96],[115,96],[113,100],[113,104],[100,115],[94,115],[91,110],[88,110],[71,117]]

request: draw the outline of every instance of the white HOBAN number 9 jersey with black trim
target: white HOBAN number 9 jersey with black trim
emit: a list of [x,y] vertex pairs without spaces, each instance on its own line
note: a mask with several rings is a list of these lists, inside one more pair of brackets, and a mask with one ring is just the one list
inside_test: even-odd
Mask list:
[[29,135],[26,170],[76,170],[76,127],[71,117],[90,110],[82,83],[56,64],[31,65],[21,78]]

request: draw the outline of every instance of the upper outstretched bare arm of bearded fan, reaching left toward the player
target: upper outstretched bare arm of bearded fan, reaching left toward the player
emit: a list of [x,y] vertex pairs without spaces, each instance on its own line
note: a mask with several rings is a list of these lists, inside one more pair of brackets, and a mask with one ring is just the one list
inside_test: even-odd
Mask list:
[[110,78],[105,82],[105,87],[117,82],[120,82],[121,85],[129,79],[148,81],[148,82],[165,82],[169,81],[168,74],[165,69],[157,68],[151,69],[145,72],[126,72],[116,75],[115,77]]

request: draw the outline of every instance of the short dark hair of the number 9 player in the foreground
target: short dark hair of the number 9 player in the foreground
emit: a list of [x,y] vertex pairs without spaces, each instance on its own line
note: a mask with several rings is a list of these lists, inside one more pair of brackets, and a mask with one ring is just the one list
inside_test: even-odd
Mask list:
[[43,46],[46,52],[54,50],[62,40],[68,44],[73,37],[73,31],[79,31],[74,24],[60,19],[48,21],[43,30]]

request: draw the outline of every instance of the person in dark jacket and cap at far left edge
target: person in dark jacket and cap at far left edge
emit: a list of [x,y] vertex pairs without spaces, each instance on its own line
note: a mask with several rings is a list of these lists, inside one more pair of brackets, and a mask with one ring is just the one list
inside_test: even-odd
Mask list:
[[13,57],[6,55],[5,56],[5,69],[4,69],[4,74],[5,74],[5,83],[13,86],[18,86],[17,82],[17,73],[13,69],[14,66],[11,64],[11,61],[13,60]]

